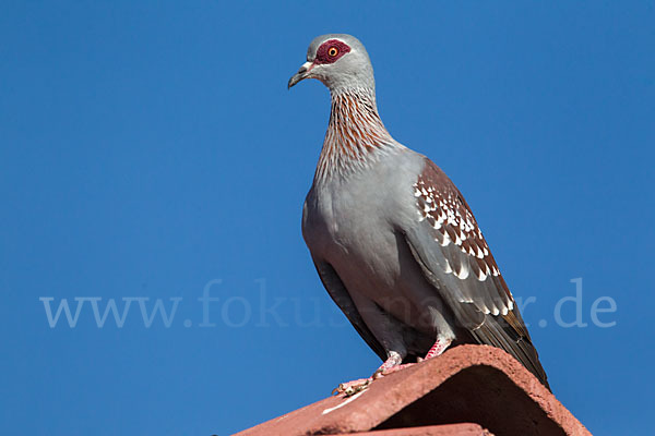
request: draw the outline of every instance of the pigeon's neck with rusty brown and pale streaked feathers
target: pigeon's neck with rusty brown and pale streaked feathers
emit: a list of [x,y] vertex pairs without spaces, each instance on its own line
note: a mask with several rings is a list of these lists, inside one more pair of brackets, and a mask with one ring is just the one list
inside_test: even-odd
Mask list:
[[333,89],[331,96],[330,124],[314,181],[347,177],[373,165],[382,155],[404,148],[384,128],[374,89]]

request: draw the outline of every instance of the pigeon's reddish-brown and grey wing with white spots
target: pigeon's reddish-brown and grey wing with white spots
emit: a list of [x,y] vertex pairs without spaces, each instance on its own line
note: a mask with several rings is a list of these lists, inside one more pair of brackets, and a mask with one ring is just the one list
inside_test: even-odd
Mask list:
[[468,204],[431,160],[414,184],[416,221],[402,229],[425,277],[480,343],[512,354],[548,386],[537,351]]

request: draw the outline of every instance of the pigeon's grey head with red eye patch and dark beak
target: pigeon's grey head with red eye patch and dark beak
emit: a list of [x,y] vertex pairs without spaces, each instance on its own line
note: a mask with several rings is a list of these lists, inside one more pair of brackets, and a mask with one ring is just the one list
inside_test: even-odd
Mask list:
[[318,78],[331,90],[374,88],[373,68],[359,39],[350,35],[322,35],[309,45],[307,62],[289,78],[290,88],[303,78]]

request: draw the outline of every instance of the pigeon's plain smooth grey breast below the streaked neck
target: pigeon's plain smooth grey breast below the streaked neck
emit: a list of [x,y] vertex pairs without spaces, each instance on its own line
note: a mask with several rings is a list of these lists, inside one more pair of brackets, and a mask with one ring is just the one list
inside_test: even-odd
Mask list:
[[402,169],[396,165],[314,185],[305,204],[303,235],[312,255],[332,265],[349,293],[412,325],[420,317],[418,302],[432,291],[397,231],[400,221],[416,215],[412,175],[398,174]]

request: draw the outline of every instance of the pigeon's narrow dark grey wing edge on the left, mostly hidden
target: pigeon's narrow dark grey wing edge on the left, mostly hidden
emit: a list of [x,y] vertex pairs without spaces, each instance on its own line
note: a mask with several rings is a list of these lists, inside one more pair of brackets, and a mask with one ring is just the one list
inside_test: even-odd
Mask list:
[[361,314],[357,311],[348,290],[344,286],[344,282],[338,277],[332,265],[327,262],[322,262],[317,258],[313,258],[314,266],[317,267],[317,271],[319,272],[319,277],[321,277],[321,281],[323,286],[327,290],[332,300],[336,303],[336,305],[342,310],[342,312],[346,315],[355,330],[364,338],[366,343],[380,356],[381,360],[386,360],[386,351],[382,344],[376,339],[371,330],[368,328]]

